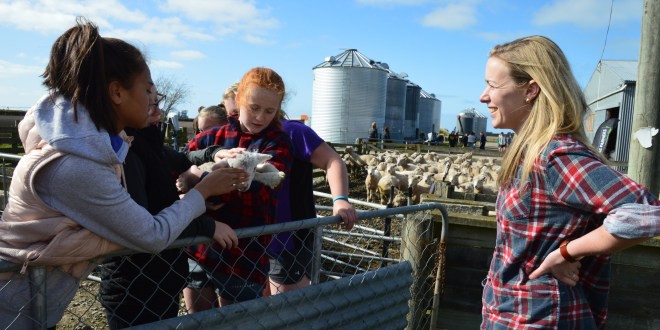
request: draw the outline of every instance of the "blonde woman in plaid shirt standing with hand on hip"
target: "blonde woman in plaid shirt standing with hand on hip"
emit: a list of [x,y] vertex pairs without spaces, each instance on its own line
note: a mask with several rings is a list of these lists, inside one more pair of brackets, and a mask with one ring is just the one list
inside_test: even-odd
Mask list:
[[658,201],[603,163],[561,49],[531,36],[486,63],[493,127],[516,133],[498,178],[497,240],[484,281],[483,329],[603,328],[609,253],[658,235]]

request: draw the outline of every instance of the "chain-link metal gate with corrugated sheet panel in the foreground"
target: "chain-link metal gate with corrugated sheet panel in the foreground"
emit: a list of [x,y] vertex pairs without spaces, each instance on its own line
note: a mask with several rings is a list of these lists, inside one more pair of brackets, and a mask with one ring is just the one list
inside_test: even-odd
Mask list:
[[[117,315],[102,306],[100,294],[104,286],[110,285],[121,291],[108,298],[116,303],[115,307],[130,306],[131,312],[125,315],[160,319],[165,310],[172,308],[163,307],[163,302],[173,301],[176,317],[141,324],[136,329],[434,329],[444,279],[446,221],[443,219],[447,219],[444,206],[431,203],[362,211],[358,217],[359,225],[350,232],[341,230],[340,218],[333,216],[237,229],[242,246],[260,254],[241,259],[241,251],[233,251],[238,258],[216,251],[220,255],[216,255],[215,262],[202,260],[203,269],[223,279],[215,282],[222,297],[231,293],[232,297],[256,298],[238,299],[243,301],[196,313],[187,310],[181,292],[189,277],[188,260],[199,260],[204,255],[190,247],[205,244],[203,249],[214,249],[208,239],[180,239],[169,250],[156,255],[135,255],[123,250],[104,256],[81,282],[57,328],[112,328],[108,317]],[[277,241],[281,235],[276,234],[282,232],[297,234],[288,236],[291,241]],[[257,283],[263,281],[268,276],[268,267],[259,262],[268,255],[258,238],[271,235],[282,246],[295,246],[293,240],[297,239],[301,243],[298,247],[312,256],[309,287],[259,297],[263,287],[236,288],[232,286],[234,282],[223,277],[240,269],[237,273]],[[207,258],[210,255],[213,253],[206,253]],[[184,260],[186,267],[175,267],[181,264],[180,260]],[[4,275],[0,277],[0,295],[3,290],[14,290],[13,284],[19,278],[28,279],[29,299],[16,311],[16,316],[33,320],[35,328],[45,328],[47,307],[55,303],[49,301],[47,294],[54,288],[45,287],[50,272],[28,267],[23,275],[20,270],[21,265],[0,261],[0,276]],[[120,271],[124,273],[117,273]],[[216,298],[201,302],[213,305]],[[12,321],[0,323],[11,325]]]

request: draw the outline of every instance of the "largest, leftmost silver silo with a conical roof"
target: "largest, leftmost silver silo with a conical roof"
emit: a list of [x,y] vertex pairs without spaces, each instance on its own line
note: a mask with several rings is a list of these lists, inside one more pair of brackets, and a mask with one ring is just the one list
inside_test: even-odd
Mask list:
[[313,68],[312,128],[328,142],[366,138],[372,122],[382,134],[387,71],[357,49],[329,56]]

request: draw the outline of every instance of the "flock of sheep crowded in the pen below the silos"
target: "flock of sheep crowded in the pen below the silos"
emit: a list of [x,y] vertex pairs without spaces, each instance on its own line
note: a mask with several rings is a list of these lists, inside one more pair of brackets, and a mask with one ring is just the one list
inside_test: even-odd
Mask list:
[[[447,182],[454,191],[495,195],[495,182],[500,169],[498,157],[472,157],[471,152],[443,155],[437,152],[413,153],[385,150],[377,154],[360,155],[351,146],[343,157],[351,173],[366,170],[367,202],[395,207],[411,202],[417,204],[420,195],[433,193],[438,182]],[[393,193],[393,195],[392,195]]]

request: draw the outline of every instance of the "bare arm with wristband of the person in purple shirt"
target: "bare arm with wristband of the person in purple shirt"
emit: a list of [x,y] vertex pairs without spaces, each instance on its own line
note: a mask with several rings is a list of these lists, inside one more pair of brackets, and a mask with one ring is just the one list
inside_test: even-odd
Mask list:
[[[309,160],[314,166],[324,169],[332,197],[348,196],[348,172],[346,164],[330,146],[323,142],[312,153]],[[333,215],[342,218],[346,230],[351,230],[357,222],[357,214],[353,206],[344,199],[336,199],[332,205]]]

